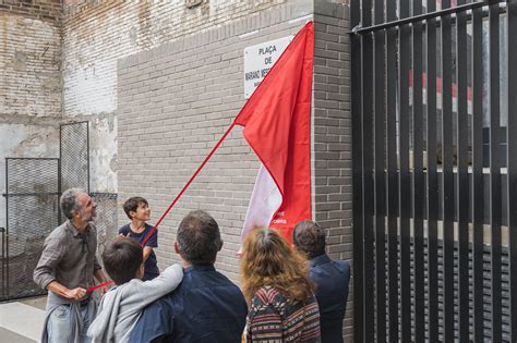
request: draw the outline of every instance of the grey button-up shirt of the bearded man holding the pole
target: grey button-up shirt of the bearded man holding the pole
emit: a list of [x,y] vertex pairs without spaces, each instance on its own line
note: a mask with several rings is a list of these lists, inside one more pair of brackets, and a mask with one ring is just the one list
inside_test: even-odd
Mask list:
[[94,272],[100,269],[96,252],[95,224],[89,223],[84,233],[79,233],[68,220],[45,240],[34,281],[44,290],[55,280],[70,290],[87,289],[94,285]]

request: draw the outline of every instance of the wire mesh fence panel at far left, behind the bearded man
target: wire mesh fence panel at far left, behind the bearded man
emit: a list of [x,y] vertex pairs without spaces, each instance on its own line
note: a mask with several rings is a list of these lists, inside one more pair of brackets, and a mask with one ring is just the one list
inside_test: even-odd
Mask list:
[[2,235],[0,297],[44,293],[33,282],[33,270],[45,237],[60,222],[59,159],[7,158],[7,230]]

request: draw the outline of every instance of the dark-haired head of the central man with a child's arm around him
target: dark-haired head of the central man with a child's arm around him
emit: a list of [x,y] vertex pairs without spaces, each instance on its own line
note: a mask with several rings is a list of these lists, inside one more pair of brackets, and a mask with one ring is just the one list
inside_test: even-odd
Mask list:
[[213,265],[223,246],[219,225],[203,210],[191,211],[183,218],[176,240],[181,257],[192,265]]

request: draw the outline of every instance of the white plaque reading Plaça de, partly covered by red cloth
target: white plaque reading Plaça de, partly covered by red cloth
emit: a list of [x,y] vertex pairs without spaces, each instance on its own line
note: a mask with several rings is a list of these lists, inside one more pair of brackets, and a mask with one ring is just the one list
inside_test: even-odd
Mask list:
[[244,97],[248,99],[294,36],[265,41],[244,49]]

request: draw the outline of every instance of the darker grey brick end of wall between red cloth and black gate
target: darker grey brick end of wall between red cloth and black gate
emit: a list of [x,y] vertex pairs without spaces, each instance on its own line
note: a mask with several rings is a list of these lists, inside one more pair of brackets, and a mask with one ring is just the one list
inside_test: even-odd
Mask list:
[[[350,41],[348,5],[316,2],[314,9],[313,160],[315,219],[328,230],[327,252],[352,259]],[[344,323],[353,342],[353,289]]]

